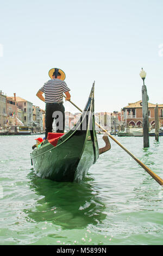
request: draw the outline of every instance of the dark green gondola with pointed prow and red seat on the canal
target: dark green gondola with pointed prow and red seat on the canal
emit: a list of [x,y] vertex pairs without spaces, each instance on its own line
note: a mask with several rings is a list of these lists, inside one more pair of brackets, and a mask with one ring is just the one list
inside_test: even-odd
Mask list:
[[80,182],[98,157],[93,84],[78,122],[65,134],[48,133],[47,141],[34,149],[30,158],[40,178]]

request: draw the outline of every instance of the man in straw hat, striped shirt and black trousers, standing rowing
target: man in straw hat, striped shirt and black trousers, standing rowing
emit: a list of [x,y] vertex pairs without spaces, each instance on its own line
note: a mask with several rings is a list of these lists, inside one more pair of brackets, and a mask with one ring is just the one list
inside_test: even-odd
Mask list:
[[[71,99],[70,89],[65,83],[65,73],[61,69],[53,68],[49,70],[51,80],[47,81],[37,92],[36,96],[46,103],[45,114],[45,139],[48,132],[52,132],[52,124],[55,118],[57,132],[64,133],[65,130],[65,108],[63,105],[63,93],[66,95],[66,100]],[[45,98],[42,94],[45,94]],[[57,114],[55,114],[57,113]]]

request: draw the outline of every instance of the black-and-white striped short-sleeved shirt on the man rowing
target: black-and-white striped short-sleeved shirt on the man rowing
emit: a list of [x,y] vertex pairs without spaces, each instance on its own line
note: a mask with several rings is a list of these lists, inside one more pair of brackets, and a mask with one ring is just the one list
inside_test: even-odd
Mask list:
[[47,81],[40,90],[45,93],[45,103],[63,103],[63,93],[70,91],[65,81],[58,78]]

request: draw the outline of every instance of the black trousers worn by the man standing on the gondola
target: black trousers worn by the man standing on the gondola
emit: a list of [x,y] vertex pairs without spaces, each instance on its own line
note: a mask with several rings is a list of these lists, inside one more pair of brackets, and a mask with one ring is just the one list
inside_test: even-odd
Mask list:
[[45,113],[45,139],[47,139],[48,132],[53,130],[53,120],[55,119],[55,125],[57,132],[64,133],[65,130],[65,107],[62,103],[46,103]]

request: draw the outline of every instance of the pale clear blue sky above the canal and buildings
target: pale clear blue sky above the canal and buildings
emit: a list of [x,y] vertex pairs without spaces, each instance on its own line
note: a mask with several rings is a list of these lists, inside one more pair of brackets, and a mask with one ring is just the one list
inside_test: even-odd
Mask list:
[[162,0],[0,0],[0,90],[45,109],[36,93],[59,68],[79,108],[95,81],[95,111],[120,111],[141,100],[143,67],[149,102],[163,103],[162,9]]

